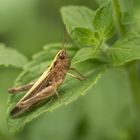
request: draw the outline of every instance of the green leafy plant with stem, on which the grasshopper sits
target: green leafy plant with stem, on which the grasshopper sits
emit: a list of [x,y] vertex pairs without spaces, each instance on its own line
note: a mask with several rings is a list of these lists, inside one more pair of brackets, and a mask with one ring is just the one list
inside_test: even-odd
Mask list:
[[[40,114],[51,112],[60,105],[74,101],[93,88],[106,70],[120,67],[124,67],[131,79],[137,114],[135,121],[138,124],[140,88],[137,67],[140,59],[140,34],[127,27],[122,18],[125,13],[121,10],[119,0],[108,1],[96,11],[84,6],[67,6],[61,9],[61,14],[67,31],[75,42],[75,45],[65,45],[72,58],[72,65],[87,76],[87,80],[79,82],[67,77],[59,90],[59,99],[53,98],[51,103],[46,102],[21,117],[8,116],[10,131],[18,132],[27,122]],[[42,52],[35,54],[33,60],[23,67],[15,85],[28,83],[40,76],[60,48],[59,43],[50,44],[46,45]],[[21,96],[23,94],[10,96],[8,110]]]

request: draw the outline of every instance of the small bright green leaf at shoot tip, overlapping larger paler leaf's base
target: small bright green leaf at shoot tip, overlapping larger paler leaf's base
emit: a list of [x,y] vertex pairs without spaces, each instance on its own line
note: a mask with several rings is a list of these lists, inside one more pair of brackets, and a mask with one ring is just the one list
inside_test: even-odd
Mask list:
[[96,32],[86,28],[75,28],[71,34],[72,38],[82,45],[98,46],[99,39]]

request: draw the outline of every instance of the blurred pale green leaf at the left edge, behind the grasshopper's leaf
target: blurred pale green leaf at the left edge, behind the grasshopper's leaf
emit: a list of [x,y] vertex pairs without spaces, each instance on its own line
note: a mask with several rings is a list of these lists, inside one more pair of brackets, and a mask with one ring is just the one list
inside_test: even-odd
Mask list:
[[22,68],[27,63],[27,58],[17,50],[0,44],[0,65]]

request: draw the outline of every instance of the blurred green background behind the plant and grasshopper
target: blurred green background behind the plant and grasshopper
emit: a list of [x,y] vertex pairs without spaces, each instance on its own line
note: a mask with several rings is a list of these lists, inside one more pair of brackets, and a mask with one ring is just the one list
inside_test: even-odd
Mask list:
[[[104,0],[0,0],[0,42],[31,59],[47,43],[62,42],[60,8],[84,5],[96,9]],[[140,26],[140,1],[134,0]],[[86,96],[29,123],[18,135],[6,124],[7,89],[21,69],[0,67],[0,140],[136,140],[133,99],[127,72],[112,69]]]

